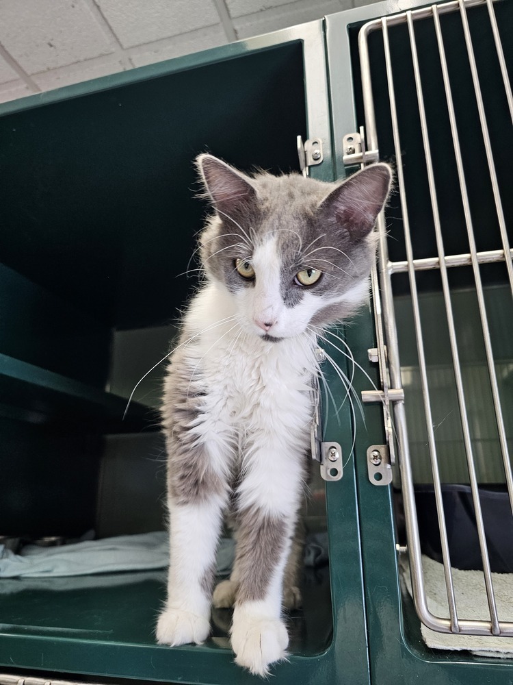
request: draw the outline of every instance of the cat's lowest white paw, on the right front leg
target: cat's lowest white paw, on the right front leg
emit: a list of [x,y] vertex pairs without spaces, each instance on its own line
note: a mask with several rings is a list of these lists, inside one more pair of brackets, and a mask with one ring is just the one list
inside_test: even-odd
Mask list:
[[289,635],[282,621],[261,617],[236,621],[234,618],[232,648],[235,663],[254,675],[265,677],[269,674],[270,664],[287,658],[285,650],[288,644]]

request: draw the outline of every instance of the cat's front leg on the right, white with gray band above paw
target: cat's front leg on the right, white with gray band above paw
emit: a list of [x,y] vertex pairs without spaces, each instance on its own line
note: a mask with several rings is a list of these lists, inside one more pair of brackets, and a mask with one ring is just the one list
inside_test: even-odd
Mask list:
[[287,656],[282,588],[304,482],[304,452],[287,453],[280,438],[266,442],[252,449],[238,490],[239,586],[231,632],[235,662],[261,676]]

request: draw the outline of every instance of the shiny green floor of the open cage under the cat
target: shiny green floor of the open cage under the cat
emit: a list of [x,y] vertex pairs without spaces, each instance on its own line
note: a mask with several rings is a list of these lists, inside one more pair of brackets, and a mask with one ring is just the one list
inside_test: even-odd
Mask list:
[[[0,632],[20,638],[77,640],[84,648],[98,642],[155,645],[155,621],[165,590],[162,571],[3,580]],[[289,651],[315,656],[327,649],[332,634],[327,566],[306,569],[303,603],[302,610],[288,617]],[[230,649],[230,622],[230,610],[213,610],[212,636],[206,648]],[[155,645],[155,649],[168,648]]]

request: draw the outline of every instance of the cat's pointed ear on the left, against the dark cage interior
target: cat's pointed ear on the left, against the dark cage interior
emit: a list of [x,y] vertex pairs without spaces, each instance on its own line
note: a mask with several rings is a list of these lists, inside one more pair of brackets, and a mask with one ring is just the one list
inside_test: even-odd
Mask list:
[[254,200],[250,179],[229,164],[206,154],[198,155],[196,164],[212,206],[221,216],[240,214]]

